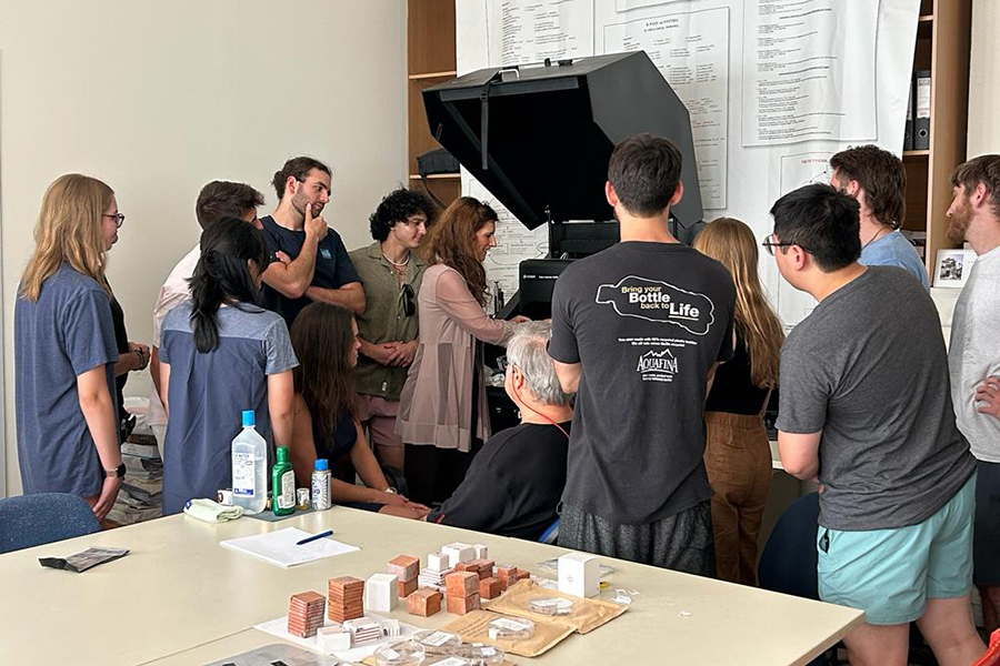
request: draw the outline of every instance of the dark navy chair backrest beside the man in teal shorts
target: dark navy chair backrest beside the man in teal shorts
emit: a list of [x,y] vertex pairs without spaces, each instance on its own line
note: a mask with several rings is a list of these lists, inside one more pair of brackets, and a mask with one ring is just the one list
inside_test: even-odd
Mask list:
[[819,599],[816,552],[819,495],[810,493],[789,506],[768,543],[757,567],[760,586],[799,597]]

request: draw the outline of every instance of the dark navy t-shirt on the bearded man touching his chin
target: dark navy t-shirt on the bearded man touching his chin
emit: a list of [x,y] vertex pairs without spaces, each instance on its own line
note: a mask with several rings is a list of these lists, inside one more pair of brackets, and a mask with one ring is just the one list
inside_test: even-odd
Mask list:
[[[280,251],[288,254],[292,260],[299,256],[302,245],[306,244],[304,231],[286,229],[274,222],[271,215],[261,218],[260,223],[269,254],[273,255]],[[361,282],[361,278],[358,275],[358,271],[354,270],[354,264],[351,263],[351,258],[348,255],[347,248],[343,246],[343,241],[340,240],[340,234],[332,229],[328,229],[327,235],[319,242],[317,248],[312,286],[339,289],[351,282]],[[291,327],[299,312],[312,302],[306,296],[289,299],[267,284],[264,284],[263,294],[264,306],[283,316],[289,327]]]

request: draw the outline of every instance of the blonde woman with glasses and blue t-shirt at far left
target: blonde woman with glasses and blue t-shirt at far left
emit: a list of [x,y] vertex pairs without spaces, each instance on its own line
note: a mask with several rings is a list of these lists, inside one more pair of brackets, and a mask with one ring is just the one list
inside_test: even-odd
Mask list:
[[101,181],[71,173],[46,191],[14,305],[18,460],[24,493],[72,493],[103,518],[124,465],[112,401],[118,346],[107,239],[121,213]]

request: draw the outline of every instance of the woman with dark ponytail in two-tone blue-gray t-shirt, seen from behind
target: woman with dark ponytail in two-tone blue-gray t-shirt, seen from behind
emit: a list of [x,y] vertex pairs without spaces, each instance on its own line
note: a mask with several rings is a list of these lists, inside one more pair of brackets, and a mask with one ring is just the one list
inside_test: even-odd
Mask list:
[[[292,438],[298,365],[281,316],[260,306],[268,252],[260,232],[223,218],[201,234],[191,301],[171,310],[160,340],[160,385],[167,408],[163,514],[232,486],[230,442],[241,412],[277,446]],[[272,437],[273,434],[273,437]]]

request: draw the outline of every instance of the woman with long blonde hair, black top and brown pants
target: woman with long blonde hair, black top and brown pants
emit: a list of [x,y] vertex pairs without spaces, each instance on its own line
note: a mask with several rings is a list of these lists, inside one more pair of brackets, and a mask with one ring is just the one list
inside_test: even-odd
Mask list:
[[710,222],[694,249],[729,269],[736,283],[733,357],[719,366],[704,405],[704,466],[712,496],[719,578],[757,584],[757,537],[771,485],[763,412],[778,385],[784,333],[758,278],[757,240],[732,218]]

